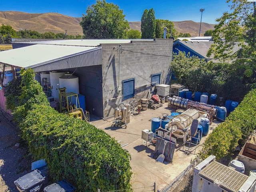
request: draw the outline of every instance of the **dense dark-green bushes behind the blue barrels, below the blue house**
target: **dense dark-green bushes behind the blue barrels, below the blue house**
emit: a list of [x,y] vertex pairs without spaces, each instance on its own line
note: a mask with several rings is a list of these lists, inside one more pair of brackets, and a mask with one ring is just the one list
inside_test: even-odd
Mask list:
[[192,92],[214,93],[224,99],[238,102],[244,98],[253,83],[245,81],[233,64],[206,62],[181,51],[173,54],[171,66],[177,83],[183,84]]

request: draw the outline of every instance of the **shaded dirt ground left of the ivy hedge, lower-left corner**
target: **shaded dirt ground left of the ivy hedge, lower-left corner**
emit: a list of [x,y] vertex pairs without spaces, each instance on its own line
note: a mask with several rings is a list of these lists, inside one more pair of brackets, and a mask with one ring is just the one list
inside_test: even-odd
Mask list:
[[12,117],[0,109],[0,192],[17,192],[14,181],[31,171],[32,157]]

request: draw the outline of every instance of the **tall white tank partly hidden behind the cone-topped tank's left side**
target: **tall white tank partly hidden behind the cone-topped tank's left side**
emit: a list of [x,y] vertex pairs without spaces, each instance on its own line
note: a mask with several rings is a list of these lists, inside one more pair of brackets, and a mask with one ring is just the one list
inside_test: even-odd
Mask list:
[[59,88],[60,82],[59,78],[65,74],[64,71],[50,71],[50,83],[52,87],[52,96],[56,102],[60,102]]

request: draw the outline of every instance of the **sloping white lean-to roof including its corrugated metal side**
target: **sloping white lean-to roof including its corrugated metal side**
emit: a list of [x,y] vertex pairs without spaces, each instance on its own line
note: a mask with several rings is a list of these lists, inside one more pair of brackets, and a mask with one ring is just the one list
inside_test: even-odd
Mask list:
[[102,64],[101,47],[35,44],[0,52],[0,63],[35,72]]

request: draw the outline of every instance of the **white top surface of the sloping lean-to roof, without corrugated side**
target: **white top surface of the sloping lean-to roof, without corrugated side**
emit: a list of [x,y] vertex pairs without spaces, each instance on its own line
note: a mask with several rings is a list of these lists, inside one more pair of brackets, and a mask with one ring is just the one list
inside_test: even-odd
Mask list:
[[1,51],[0,63],[20,68],[32,68],[95,49],[99,47],[36,44]]

